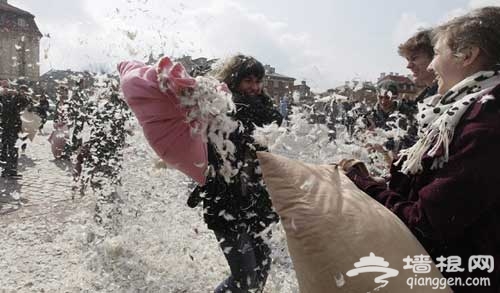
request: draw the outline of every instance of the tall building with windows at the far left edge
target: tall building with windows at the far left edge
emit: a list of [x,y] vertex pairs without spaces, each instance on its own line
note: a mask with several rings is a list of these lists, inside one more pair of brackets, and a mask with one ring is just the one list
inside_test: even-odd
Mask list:
[[0,0],[0,78],[40,76],[40,39],[35,16]]

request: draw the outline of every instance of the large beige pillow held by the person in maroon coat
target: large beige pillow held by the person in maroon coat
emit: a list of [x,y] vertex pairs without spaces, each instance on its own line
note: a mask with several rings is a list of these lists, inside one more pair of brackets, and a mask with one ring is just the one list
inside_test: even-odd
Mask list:
[[[397,216],[359,190],[337,166],[265,152],[258,157],[286,232],[300,292],[451,292]],[[415,258],[420,255],[427,258]],[[404,269],[408,256],[424,259],[413,268],[423,271]],[[439,289],[429,283],[411,289],[415,278],[433,278]]]

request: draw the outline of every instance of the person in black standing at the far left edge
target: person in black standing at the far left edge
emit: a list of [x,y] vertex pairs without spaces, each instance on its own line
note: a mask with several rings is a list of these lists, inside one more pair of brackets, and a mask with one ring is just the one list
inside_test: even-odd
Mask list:
[[0,161],[3,162],[2,177],[19,179],[21,175],[17,174],[18,148],[16,142],[18,133],[21,131],[21,111],[28,107],[31,100],[27,97],[26,85],[19,86],[19,90],[12,90],[8,83],[2,83],[0,93],[1,128],[2,131],[2,150]]

